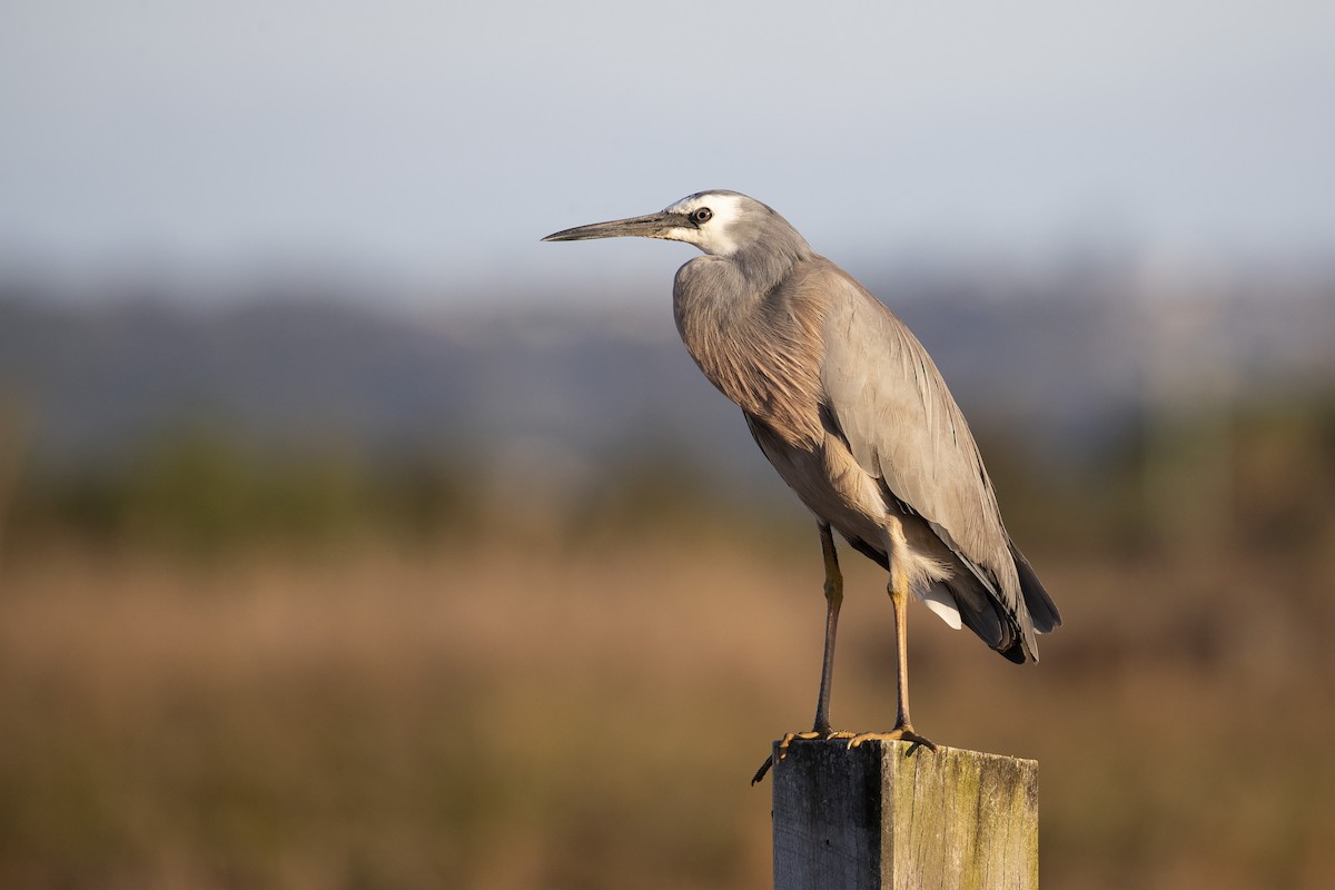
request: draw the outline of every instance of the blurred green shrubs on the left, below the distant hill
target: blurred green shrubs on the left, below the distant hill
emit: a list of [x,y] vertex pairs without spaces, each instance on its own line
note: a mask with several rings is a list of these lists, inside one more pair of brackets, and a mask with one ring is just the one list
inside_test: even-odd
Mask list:
[[75,536],[206,555],[363,534],[414,540],[458,531],[474,510],[473,486],[445,460],[312,451],[259,455],[192,428],[115,467],[36,470],[12,494],[9,543]]

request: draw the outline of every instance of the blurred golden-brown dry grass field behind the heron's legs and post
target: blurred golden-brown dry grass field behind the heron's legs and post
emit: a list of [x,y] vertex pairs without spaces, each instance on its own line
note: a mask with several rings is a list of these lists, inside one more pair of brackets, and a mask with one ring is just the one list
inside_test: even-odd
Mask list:
[[[812,717],[809,538],[11,559],[0,886],[770,886],[748,779]],[[1335,885],[1330,556],[1033,555],[1039,667],[921,608],[910,652],[920,729],[1040,761],[1045,886]],[[884,729],[884,582],[845,568],[834,718]]]

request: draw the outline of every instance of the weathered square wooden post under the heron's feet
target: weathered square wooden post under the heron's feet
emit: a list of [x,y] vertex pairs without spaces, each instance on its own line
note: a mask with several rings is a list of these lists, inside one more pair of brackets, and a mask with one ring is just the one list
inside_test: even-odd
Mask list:
[[1037,890],[1037,761],[908,750],[774,746],[774,890]]

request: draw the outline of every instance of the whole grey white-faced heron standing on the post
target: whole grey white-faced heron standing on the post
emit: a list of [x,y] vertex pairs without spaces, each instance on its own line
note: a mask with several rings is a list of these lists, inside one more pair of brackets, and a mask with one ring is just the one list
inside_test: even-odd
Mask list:
[[[778,475],[816,514],[825,556],[825,656],[816,723],[794,738],[905,739],[909,592],[1016,663],[1061,623],[1011,542],[964,414],[922,344],[788,220],[732,191],[659,213],[567,228],[545,242],[638,235],[694,244],[673,287],[677,330],[705,376],[741,407]],[[898,707],[889,733],[837,733],[829,699],[844,580],[830,530],[889,571]],[[761,767],[760,779],[769,762]]]

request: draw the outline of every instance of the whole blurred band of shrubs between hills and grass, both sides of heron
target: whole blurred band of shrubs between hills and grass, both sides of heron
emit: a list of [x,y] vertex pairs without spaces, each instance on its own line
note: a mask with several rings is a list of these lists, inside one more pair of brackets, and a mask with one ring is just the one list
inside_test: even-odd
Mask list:
[[[1027,550],[1296,554],[1335,540],[1335,398],[1135,418],[1120,446],[1064,464],[1040,464],[1027,443],[985,428],[979,438],[1008,527]],[[372,458],[339,443],[262,454],[192,427],[111,467],[20,467],[0,527],[9,548],[75,536],[202,555],[356,536],[573,543],[668,527],[786,547],[808,531],[777,479],[720,479],[661,454],[622,455],[550,491],[501,472],[477,455]]]

